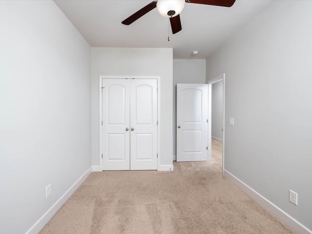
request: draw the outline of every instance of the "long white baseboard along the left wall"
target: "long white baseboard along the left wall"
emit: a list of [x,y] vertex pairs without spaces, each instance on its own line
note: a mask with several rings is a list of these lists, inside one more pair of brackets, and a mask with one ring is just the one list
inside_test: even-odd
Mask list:
[[26,234],[38,234],[39,231],[44,227],[44,225],[49,222],[49,220],[55,215],[59,208],[68,200],[68,198],[78,189],[80,184],[90,175],[92,172],[92,167],[90,167],[75,183],[70,187],[64,195],[62,195],[59,200],[54,203],[54,205],[44,214],[39,220],[26,232]]

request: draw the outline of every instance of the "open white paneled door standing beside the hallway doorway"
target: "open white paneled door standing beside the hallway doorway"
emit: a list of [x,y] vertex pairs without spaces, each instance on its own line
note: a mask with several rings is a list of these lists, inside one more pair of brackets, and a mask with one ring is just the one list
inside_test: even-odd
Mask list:
[[208,160],[208,85],[177,84],[176,161]]

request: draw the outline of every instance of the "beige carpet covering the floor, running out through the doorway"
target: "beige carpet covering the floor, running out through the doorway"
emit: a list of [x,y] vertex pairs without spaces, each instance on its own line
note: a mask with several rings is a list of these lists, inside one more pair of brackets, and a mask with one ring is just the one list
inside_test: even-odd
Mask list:
[[293,234],[210,162],[174,172],[93,172],[40,234]]

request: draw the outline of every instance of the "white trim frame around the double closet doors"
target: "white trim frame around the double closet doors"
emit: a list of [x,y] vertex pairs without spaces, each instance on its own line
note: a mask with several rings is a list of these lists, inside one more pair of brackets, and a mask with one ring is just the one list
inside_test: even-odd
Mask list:
[[103,146],[102,146],[102,79],[156,79],[157,80],[157,171],[160,168],[160,77],[159,76],[98,76],[98,99],[99,99],[99,118],[98,118],[98,128],[99,128],[99,171],[103,171]]

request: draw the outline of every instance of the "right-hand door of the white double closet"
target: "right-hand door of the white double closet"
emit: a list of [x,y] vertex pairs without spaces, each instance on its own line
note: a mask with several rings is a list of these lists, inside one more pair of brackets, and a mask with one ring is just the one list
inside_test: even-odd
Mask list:
[[157,80],[130,80],[130,169],[157,170]]

